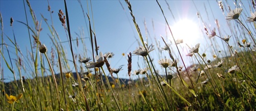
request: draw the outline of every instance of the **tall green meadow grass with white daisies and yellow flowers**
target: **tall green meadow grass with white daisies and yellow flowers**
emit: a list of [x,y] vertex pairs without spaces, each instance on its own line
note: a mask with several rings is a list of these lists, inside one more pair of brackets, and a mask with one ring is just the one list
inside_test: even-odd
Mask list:
[[[79,3],[81,4],[80,1]],[[84,42],[83,31],[77,34],[79,38],[76,38],[74,42],[70,33],[69,9],[66,1],[65,11],[59,10],[58,16],[69,40],[70,50],[68,52],[71,52],[72,60],[67,59],[67,50],[63,48],[62,44],[59,44],[61,40],[53,25],[53,21],[56,20],[46,20],[44,15],[41,17],[44,18],[44,23],[47,24],[50,31],[49,38],[52,46],[46,46],[40,42],[41,23],[36,19],[29,1],[24,2],[24,5],[29,7],[33,26],[29,24],[31,22],[18,21],[28,27],[30,49],[27,51],[27,57],[24,57],[18,48],[14,30],[12,30],[13,39],[9,36],[5,37],[8,40],[3,39],[4,27],[1,16],[1,64],[4,63],[12,72],[14,81],[5,83],[4,78],[1,78],[0,110],[254,110],[256,108],[256,76],[254,75],[256,73],[254,65],[256,63],[256,43],[254,41],[256,13],[253,12],[254,16],[247,18],[247,21],[253,25],[245,25],[248,22],[241,20],[243,18],[240,14],[242,9],[229,9],[228,12],[233,12],[223,15],[229,24],[227,28],[231,32],[244,34],[243,38],[236,35],[222,37],[223,34],[216,34],[215,29],[209,30],[209,27],[204,25],[202,30],[210,40],[213,52],[218,52],[219,45],[222,45],[226,51],[219,51],[219,54],[224,56],[219,58],[214,55],[215,61],[206,59],[207,53],[200,50],[202,47],[200,42],[205,41],[200,41],[193,47],[187,46],[189,50],[187,56],[191,58],[189,62],[193,65],[186,66],[179,47],[179,43],[182,41],[177,41],[173,36],[169,21],[165,16],[166,12],[162,10],[161,4],[156,1],[161,9],[159,13],[162,13],[165,18],[164,22],[168,29],[166,32],[171,34],[174,41],[174,47],[170,47],[167,40],[161,37],[165,45],[162,49],[157,42],[151,45],[145,42],[148,40],[141,34],[140,26],[133,14],[132,4],[127,0],[125,3],[130,10],[134,28],[138,33],[138,42],[142,44],[133,53],[127,54],[127,69],[112,68],[110,60],[114,59],[112,58],[113,53],[103,55],[102,52],[98,52],[97,37],[91,23],[92,17],[88,14],[83,13],[84,19],[88,18],[89,20],[91,46]],[[224,11],[226,7],[223,7],[221,2],[219,5],[220,9]],[[251,5],[255,9],[255,4]],[[82,5],[81,9],[83,11]],[[52,16],[50,4],[48,11]],[[170,9],[169,11],[172,12]],[[199,20],[204,22],[200,16],[198,14]],[[11,19],[11,26],[12,22]],[[217,30],[220,30],[218,20],[216,23]],[[216,43],[217,39],[223,41],[222,44]],[[230,44],[231,39],[239,41],[240,48],[236,48],[238,44]],[[78,47],[78,40],[83,43],[84,55],[82,56],[77,56],[73,50]],[[6,44],[4,41],[10,41],[12,44]],[[14,50],[10,50],[8,47],[13,47]],[[93,50],[90,53],[91,56],[88,56],[90,54],[87,47]],[[177,49],[177,52],[174,52],[174,49]],[[11,59],[9,51],[15,51],[16,61]],[[153,61],[152,51],[157,51],[160,54],[159,58],[154,57],[158,64]],[[162,51],[167,54],[162,55],[164,54]],[[50,58],[48,58],[49,55]],[[134,55],[142,58],[141,61],[143,61],[145,69],[133,69],[138,64],[132,61],[136,57]],[[27,59],[22,61],[22,58]],[[54,59],[57,59],[58,62],[55,63]],[[72,63],[69,61],[72,61],[75,73],[70,72]],[[29,68],[23,67],[23,64],[28,64]],[[181,64],[182,67],[180,67]],[[162,69],[156,67],[157,65],[160,65]],[[15,72],[14,69],[17,69],[18,72]],[[122,69],[127,70],[127,75],[130,77],[128,82],[122,81],[123,79],[118,77],[118,72]],[[132,70],[137,70],[137,72],[133,73]],[[159,74],[158,70],[164,71],[164,74]],[[59,71],[59,74],[56,74],[56,71]],[[34,78],[25,79],[22,72],[30,73]],[[3,77],[3,66],[1,73]],[[108,74],[111,76],[107,77]],[[117,74],[117,78],[113,74]],[[16,77],[16,75],[19,76]],[[131,76],[138,76],[139,79],[133,80]]]

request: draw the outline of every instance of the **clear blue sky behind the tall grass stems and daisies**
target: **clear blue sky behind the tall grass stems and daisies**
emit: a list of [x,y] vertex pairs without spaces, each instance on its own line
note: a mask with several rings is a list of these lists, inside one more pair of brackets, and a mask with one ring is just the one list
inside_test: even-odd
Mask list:
[[[162,35],[164,38],[166,37],[170,38],[170,34],[169,34],[169,31],[166,30],[166,23],[159,6],[157,5],[157,2],[156,1],[130,1],[130,2],[132,5],[133,13],[136,17],[136,21],[140,26],[140,30],[144,37],[144,40],[146,40],[145,38],[147,36],[149,44],[153,43],[155,45],[156,44],[155,40],[157,40],[157,42],[159,41],[160,46],[163,47],[164,44],[161,40],[160,35]],[[136,39],[139,40],[139,37],[136,32],[134,23],[132,21],[132,17],[130,15],[130,11],[127,8],[126,3],[124,1],[119,2],[117,0],[81,1],[81,3],[84,9],[84,12],[89,14],[91,18],[91,22],[94,23],[93,29],[97,37],[97,44],[100,46],[99,51],[102,51],[103,53],[113,52],[115,56],[113,59],[111,59],[111,66],[113,68],[118,68],[118,66],[124,65],[123,70],[120,72],[119,77],[128,78],[127,69],[126,69],[127,56],[125,56],[124,58],[122,56],[122,53],[129,53],[130,51],[133,52],[139,46],[138,42],[136,42]],[[121,6],[120,3],[122,4],[123,7]],[[221,24],[221,31],[223,31],[222,32],[223,36],[232,35],[232,33],[229,30],[227,30],[227,22],[225,20],[225,16],[229,11],[228,12],[225,11],[225,16],[224,16],[216,1],[194,1],[194,2],[193,1],[167,1],[167,3],[170,6],[170,9],[172,10],[174,17],[172,16],[172,13],[170,13],[170,11],[168,10],[168,7],[165,1],[159,1],[159,3],[163,8],[165,16],[172,29],[174,30],[179,29],[177,27],[177,23],[183,22],[184,20],[189,20],[194,23],[192,27],[184,26],[184,31],[176,32],[176,33],[187,34],[183,36],[190,36],[190,37],[184,37],[183,38],[184,43],[180,45],[180,48],[184,49],[182,50],[182,56],[185,56],[185,54],[187,54],[188,52],[186,44],[194,47],[197,43],[201,43],[201,48],[200,48],[202,50],[201,53],[211,51],[209,44],[202,42],[202,41],[209,41],[209,40],[207,40],[207,36],[201,32],[203,30],[202,29],[203,25],[202,25],[202,21],[200,21],[197,17],[198,12],[202,16],[202,19],[204,20],[205,25],[207,26],[209,31],[212,30],[214,27],[217,27],[215,24],[215,19],[218,19]],[[45,18],[48,19],[48,22],[51,24],[50,13],[47,11],[48,2],[34,0],[34,1],[30,1],[30,4],[36,14],[37,20],[41,22],[41,27],[43,29],[40,32],[40,37],[39,37],[40,41],[48,46],[48,49],[49,49],[48,54],[50,56],[50,47],[52,46],[52,43],[48,36],[50,32],[48,30],[48,27],[45,21],[42,20],[41,18],[41,14],[42,14]],[[56,29],[56,32],[58,33],[61,41],[67,41],[68,39],[67,39],[65,30],[61,26],[61,23],[57,15],[59,9],[65,12],[64,2],[49,1],[49,4],[51,6],[51,10],[54,11],[52,15],[53,15],[53,24]],[[250,9],[252,9],[251,1],[242,1],[242,3],[240,3],[241,6],[239,4],[235,6],[234,1],[228,1],[227,3],[223,2],[223,4],[225,5],[224,8],[226,8],[227,5],[230,6],[231,9],[234,9],[236,7],[243,8],[244,10],[242,13],[242,16],[243,16],[242,20],[245,20],[248,16],[250,16]],[[88,18],[86,18],[86,20],[84,19],[82,10],[78,1],[73,1],[73,0],[67,1],[67,6],[69,11],[69,17],[70,17],[71,35],[73,38],[76,38],[77,36],[75,33],[79,33],[79,30],[83,29],[84,37],[86,37],[84,41],[86,41],[86,44],[89,50],[88,54],[90,54],[92,50],[91,50],[91,47],[90,47],[91,45],[88,39],[89,37]],[[3,24],[4,24],[4,31],[3,31],[4,42],[6,44],[11,45],[7,36],[13,40],[12,28],[10,26],[10,18],[13,17],[14,19],[13,29],[15,32],[17,44],[20,46],[20,49],[22,50],[22,52],[26,54],[27,49],[30,50],[28,30],[24,24],[17,22],[17,21],[26,22],[23,1],[0,0],[0,7],[1,7],[0,12],[3,16]],[[25,2],[25,7],[28,14],[29,24],[30,26],[33,26],[32,18],[29,13],[29,8],[26,2]],[[148,30],[147,34],[145,32],[145,26],[144,26],[145,22]],[[154,22],[154,29],[153,29],[152,22]],[[189,31],[194,31],[194,32],[198,31],[198,33],[189,32]],[[177,36],[179,35],[177,34]],[[179,38],[177,36],[175,37],[176,39]],[[216,39],[216,41],[218,42],[218,39]],[[1,40],[1,43],[2,43],[2,40]],[[79,44],[81,45],[81,43]],[[62,45],[65,46],[67,53],[69,53],[68,58],[72,60],[68,43],[67,42],[62,43]],[[9,50],[12,50],[11,52],[13,57],[11,58],[16,59],[14,49],[11,47],[9,48],[10,48]],[[174,48],[173,51],[177,52],[176,48],[175,47],[173,48]],[[4,56],[7,58],[6,50],[4,51],[5,51]],[[84,52],[82,51],[81,47],[76,48],[74,50],[74,53],[84,55],[84,53],[81,53],[81,52]],[[158,53],[157,49],[155,51],[152,51],[152,56],[156,56],[157,53]],[[209,55],[210,54],[212,53],[209,53]],[[92,56],[89,55],[89,57],[92,57]],[[24,57],[24,59],[26,58],[27,57]],[[164,57],[161,57],[161,58],[164,58]],[[190,61],[190,58],[188,57],[184,57],[184,59],[187,62]],[[209,57],[209,59],[212,59],[212,58]],[[154,61],[155,61],[155,66],[159,67],[159,65],[157,64],[158,57],[156,57],[156,60]],[[137,66],[137,62],[141,62],[141,58],[138,56],[133,56],[133,71],[139,69],[139,67]],[[4,67],[4,77],[12,80],[13,75],[5,66],[5,63],[2,58],[1,58],[1,65],[2,67]],[[187,65],[189,65],[189,63],[187,63]],[[140,66],[140,68],[143,68],[143,66]],[[73,68],[71,66],[71,70],[72,69]],[[14,68],[14,70],[16,73],[18,72],[17,69]]]

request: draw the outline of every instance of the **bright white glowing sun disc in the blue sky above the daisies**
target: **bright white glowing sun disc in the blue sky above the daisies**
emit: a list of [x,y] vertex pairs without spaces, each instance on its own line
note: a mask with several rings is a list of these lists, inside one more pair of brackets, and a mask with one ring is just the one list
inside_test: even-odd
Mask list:
[[188,19],[179,20],[170,27],[175,40],[183,39],[186,44],[197,43],[201,37],[199,25]]

